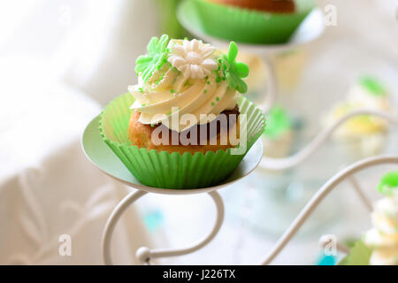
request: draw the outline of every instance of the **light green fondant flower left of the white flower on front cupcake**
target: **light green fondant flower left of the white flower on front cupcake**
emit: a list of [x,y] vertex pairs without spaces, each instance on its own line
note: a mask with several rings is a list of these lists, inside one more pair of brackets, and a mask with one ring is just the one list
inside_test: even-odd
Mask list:
[[163,34],[160,39],[156,36],[152,37],[147,47],[148,55],[142,55],[135,61],[135,72],[142,75],[143,81],[147,81],[152,73],[167,62],[168,42],[167,34]]

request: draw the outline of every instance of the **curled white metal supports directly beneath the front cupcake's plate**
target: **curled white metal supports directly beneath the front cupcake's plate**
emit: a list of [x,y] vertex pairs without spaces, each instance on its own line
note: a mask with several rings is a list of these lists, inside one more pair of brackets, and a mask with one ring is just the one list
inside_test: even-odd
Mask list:
[[[113,230],[116,226],[121,215],[125,212],[129,205],[138,200],[142,195],[146,195],[144,191],[135,191],[126,195],[126,197],[118,204],[118,206],[112,211],[110,218],[108,219],[104,231],[103,231],[103,261],[105,264],[112,264],[111,260],[111,236]],[[149,264],[151,258],[167,257],[167,256],[181,256],[187,255],[189,253],[195,252],[198,249],[202,249],[207,245],[218,233],[221,225],[224,221],[224,203],[221,196],[217,191],[212,191],[209,193],[217,209],[216,223],[211,229],[210,233],[204,237],[202,240],[195,241],[188,247],[180,249],[149,249],[147,247],[142,247],[137,249],[136,257],[140,264]]]

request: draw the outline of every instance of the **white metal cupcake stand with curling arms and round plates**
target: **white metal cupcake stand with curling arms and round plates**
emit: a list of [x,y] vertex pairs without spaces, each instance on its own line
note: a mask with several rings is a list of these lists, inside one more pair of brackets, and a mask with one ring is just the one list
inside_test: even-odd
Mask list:
[[[181,21],[184,25],[184,21]],[[217,39],[211,38],[206,34],[202,34],[199,31],[195,30],[192,27],[189,27],[187,24],[184,25],[192,34],[197,35],[200,38],[203,38],[207,42],[214,43],[217,45],[219,41]],[[323,24],[323,14],[318,9],[313,11],[308,19],[302,24],[302,26],[298,29],[296,34],[293,36],[292,40],[287,44],[283,45],[275,45],[275,46],[266,46],[263,45],[244,45],[240,44],[240,47],[244,50],[254,51],[262,57],[264,57],[264,61],[268,68],[268,73],[270,80],[267,84],[267,99],[266,103],[263,105],[264,113],[269,111],[272,107],[272,104],[275,101],[275,97],[277,96],[277,83],[275,79],[275,73],[273,70],[272,62],[269,58],[269,55],[272,52],[280,51],[280,50],[288,50],[297,45],[304,44],[306,42],[310,42],[316,39],[320,34],[322,34],[324,30]],[[222,43],[222,42],[221,42]],[[117,177],[114,177],[116,180],[122,181],[129,187],[134,187],[138,190],[134,190],[130,194],[126,195],[126,197],[117,205],[117,207],[112,211],[110,218],[108,219],[106,226],[103,230],[103,260],[105,264],[112,264],[111,259],[111,236],[116,224],[119,221],[119,218],[123,215],[126,209],[143,195],[148,195],[149,193],[153,194],[165,194],[165,195],[189,195],[189,194],[203,194],[207,193],[210,195],[211,199],[214,201],[217,208],[217,218],[214,226],[212,227],[210,233],[205,236],[203,239],[199,241],[193,242],[191,245],[187,247],[182,247],[180,249],[149,249],[147,247],[142,247],[137,249],[136,257],[140,264],[150,264],[150,260],[160,257],[168,257],[168,256],[182,256],[187,255],[189,253],[193,253],[198,249],[202,249],[206,244],[208,244],[218,233],[223,220],[224,220],[224,203],[218,194],[217,190],[221,187],[226,187],[232,184],[236,180],[241,180],[241,178],[246,177],[250,172],[252,172],[258,164],[265,169],[270,170],[285,170],[287,168],[295,167],[298,164],[302,164],[302,162],[310,157],[314,152],[317,151],[328,139],[328,137],[333,134],[333,132],[341,126],[344,121],[350,119],[352,117],[360,116],[360,115],[374,115],[381,119],[386,119],[388,122],[398,126],[398,119],[387,115],[384,112],[380,111],[354,111],[349,113],[347,116],[337,120],[332,126],[325,128],[317,137],[315,137],[306,147],[295,153],[293,156],[286,158],[269,158],[262,157],[263,156],[263,146],[260,140],[258,140],[253,147],[249,150],[249,153],[246,157],[243,158],[241,164],[237,168],[233,175],[226,180],[223,184],[220,184],[216,187],[205,187],[200,189],[159,189],[154,187],[146,187],[139,183],[134,182],[126,182],[124,180],[120,180]],[[349,165],[345,169],[341,170],[335,174],[330,180],[328,180],[323,187],[320,187],[318,192],[313,195],[310,199],[310,202],[306,204],[306,206],[302,209],[300,214],[295,218],[293,223],[287,228],[286,232],[279,238],[279,241],[276,242],[271,251],[264,257],[263,260],[259,262],[259,264],[270,264],[272,260],[278,256],[279,252],[287,245],[287,243],[293,238],[295,233],[300,229],[300,227],[304,224],[307,218],[310,217],[310,214],[317,208],[318,204],[321,203],[325,196],[328,195],[334,187],[337,187],[342,181],[348,180],[352,187],[356,190],[358,197],[363,201],[364,205],[371,210],[371,203],[366,198],[363,193],[362,188],[359,186],[356,181],[355,173],[362,171],[371,166],[379,165],[379,164],[398,164],[398,156],[384,156],[384,157],[368,157],[362,161],[358,161],[355,164]],[[328,243],[327,237],[321,237],[321,245],[326,245]],[[341,251],[347,252],[347,249],[337,244],[337,248]]]

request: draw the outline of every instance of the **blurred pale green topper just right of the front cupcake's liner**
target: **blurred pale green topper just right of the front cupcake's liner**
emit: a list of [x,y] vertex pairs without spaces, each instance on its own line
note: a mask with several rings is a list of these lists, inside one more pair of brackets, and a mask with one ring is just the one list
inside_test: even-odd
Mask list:
[[269,139],[277,139],[291,127],[292,120],[287,115],[287,112],[279,105],[275,105],[267,114],[267,125],[265,126],[264,135]]

